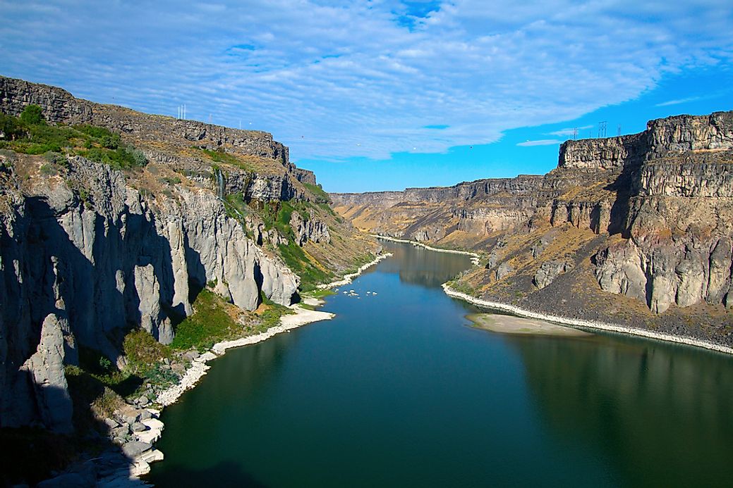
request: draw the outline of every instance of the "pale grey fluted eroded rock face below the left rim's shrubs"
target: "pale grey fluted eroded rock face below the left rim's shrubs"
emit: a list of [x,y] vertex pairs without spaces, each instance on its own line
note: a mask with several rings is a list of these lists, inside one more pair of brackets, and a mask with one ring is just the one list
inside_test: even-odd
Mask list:
[[67,429],[63,364],[75,364],[75,345],[119,362],[120,337],[138,324],[171,342],[171,312],[192,312],[189,283],[216,281],[243,309],[260,293],[288,305],[298,288],[212,192],[177,187],[174,198],[151,200],[106,165],[68,164],[65,181],[34,181],[0,217],[3,427],[40,415]]

